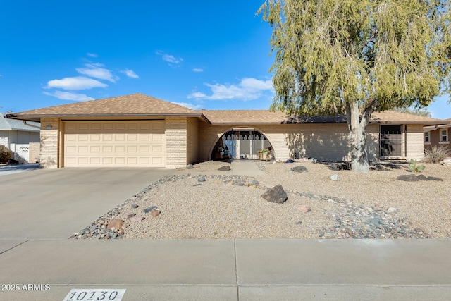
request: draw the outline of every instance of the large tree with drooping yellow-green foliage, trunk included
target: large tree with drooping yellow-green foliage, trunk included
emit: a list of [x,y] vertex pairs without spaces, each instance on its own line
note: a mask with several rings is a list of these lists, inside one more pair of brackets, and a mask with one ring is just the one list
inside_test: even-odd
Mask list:
[[369,171],[371,113],[449,91],[448,0],[266,0],[258,13],[273,28],[271,110],[345,113],[353,171]]

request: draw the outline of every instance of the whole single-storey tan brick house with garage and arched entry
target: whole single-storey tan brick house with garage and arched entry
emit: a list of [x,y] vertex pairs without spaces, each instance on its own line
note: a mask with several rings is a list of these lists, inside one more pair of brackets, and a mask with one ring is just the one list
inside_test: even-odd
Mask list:
[[[345,117],[300,118],[266,110],[192,110],[131,94],[9,114],[41,122],[42,167],[152,166],[257,158],[349,160]],[[422,159],[423,126],[434,118],[385,111],[367,128],[369,159]]]

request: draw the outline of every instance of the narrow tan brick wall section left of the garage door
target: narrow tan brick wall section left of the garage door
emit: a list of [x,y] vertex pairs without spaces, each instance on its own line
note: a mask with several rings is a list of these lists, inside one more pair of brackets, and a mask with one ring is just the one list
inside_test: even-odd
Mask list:
[[[40,166],[42,168],[56,168],[59,166],[59,118],[41,119],[41,152]],[[51,130],[46,130],[51,125]]]

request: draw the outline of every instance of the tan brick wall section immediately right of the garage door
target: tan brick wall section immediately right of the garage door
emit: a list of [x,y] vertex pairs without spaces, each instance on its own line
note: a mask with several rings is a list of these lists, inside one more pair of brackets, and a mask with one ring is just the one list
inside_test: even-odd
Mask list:
[[166,167],[178,168],[187,164],[187,118],[166,118]]

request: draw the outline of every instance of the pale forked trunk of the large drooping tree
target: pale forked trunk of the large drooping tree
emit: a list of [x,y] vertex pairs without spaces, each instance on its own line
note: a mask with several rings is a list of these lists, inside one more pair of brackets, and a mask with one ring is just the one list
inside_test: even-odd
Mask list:
[[[369,109],[368,109],[369,110]],[[369,123],[370,111],[359,116],[357,102],[346,104],[347,125],[350,129],[349,142],[351,170],[366,173],[369,171],[368,153],[366,152],[366,125]]]

